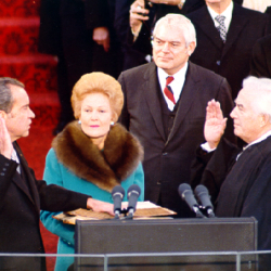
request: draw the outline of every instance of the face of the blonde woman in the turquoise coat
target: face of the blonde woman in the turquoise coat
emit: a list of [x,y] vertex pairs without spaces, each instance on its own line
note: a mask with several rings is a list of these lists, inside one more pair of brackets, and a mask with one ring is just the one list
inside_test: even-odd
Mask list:
[[112,116],[109,99],[105,94],[91,93],[82,100],[81,129],[99,149],[103,149]]

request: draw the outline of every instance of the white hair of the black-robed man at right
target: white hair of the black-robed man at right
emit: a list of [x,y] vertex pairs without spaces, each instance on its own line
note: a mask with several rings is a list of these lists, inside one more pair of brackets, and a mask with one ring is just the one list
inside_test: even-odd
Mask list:
[[271,79],[249,76],[243,80],[243,88],[251,98],[254,112],[268,115],[271,122]]

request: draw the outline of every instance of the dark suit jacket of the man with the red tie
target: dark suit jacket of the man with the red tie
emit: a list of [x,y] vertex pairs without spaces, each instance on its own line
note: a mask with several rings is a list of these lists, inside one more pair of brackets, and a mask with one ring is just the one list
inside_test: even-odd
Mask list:
[[[215,73],[189,63],[173,128],[168,138],[162,120],[160,90],[156,65],[145,64],[124,72],[119,77],[125,94],[120,122],[144,147],[145,199],[190,216],[178,195],[180,183],[190,180],[190,164],[196,146],[204,142],[206,105],[211,99],[221,103],[229,116],[233,102],[227,80]],[[227,131],[233,138],[232,130]],[[159,198],[160,197],[160,198]]]

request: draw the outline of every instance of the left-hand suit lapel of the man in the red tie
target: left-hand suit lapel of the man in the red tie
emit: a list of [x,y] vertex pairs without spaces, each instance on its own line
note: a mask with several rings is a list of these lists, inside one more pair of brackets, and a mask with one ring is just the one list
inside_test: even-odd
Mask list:
[[159,131],[164,141],[166,141],[166,134],[163,127],[160,102],[157,95],[157,91],[160,91],[160,86],[157,78],[156,65],[150,64],[150,68],[145,73],[143,89],[146,90],[145,99],[150,108],[150,113],[154,119],[154,122]]

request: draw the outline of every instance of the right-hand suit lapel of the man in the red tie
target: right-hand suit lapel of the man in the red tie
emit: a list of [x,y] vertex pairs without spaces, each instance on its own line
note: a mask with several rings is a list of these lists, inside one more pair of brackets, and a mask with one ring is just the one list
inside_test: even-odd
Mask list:
[[185,118],[186,114],[189,113],[194,102],[194,98],[196,96],[197,93],[197,81],[198,81],[198,79],[194,77],[194,75],[196,74],[197,74],[196,66],[193,63],[189,62],[185,82],[180,96],[181,100],[179,102],[179,107],[176,113],[173,127],[168,136],[167,143],[175,137],[176,132],[182,125],[183,119]]

